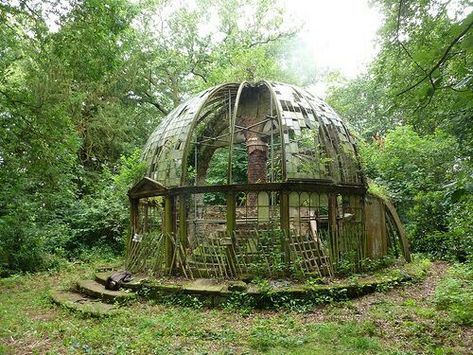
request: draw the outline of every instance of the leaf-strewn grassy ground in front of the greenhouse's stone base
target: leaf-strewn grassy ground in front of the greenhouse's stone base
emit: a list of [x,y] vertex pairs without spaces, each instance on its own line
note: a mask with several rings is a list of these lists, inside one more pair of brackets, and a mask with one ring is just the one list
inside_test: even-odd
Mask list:
[[[136,302],[117,316],[97,319],[51,304],[51,287],[67,287],[75,279],[90,277],[95,266],[72,265],[59,273],[0,280],[0,353],[466,354],[473,350],[472,328],[458,321],[450,307],[453,301],[439,306],[444,304],[439,294],[448,294],[448,280],[456,277],[455,269],[444,273],[446,264],[433,263],[420,284],[305,313]],[[461,304],[461,297],[454,299]]]

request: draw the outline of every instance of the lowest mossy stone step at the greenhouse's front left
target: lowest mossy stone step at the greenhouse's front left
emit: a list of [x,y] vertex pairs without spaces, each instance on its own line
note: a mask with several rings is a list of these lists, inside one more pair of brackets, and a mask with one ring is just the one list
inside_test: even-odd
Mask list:
[[54,303],[64,308],[94,317],[110,316],[116,310],[114,305],[91,299],[73,291],[52,290],[50,297]]

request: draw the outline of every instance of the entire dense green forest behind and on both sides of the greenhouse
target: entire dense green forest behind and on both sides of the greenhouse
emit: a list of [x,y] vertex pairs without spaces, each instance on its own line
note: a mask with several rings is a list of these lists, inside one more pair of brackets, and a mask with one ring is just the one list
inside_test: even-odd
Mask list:
[[[472,4],[373,6],[378,55],[354,80],[329,73],[327,101],[413,250],[472,261]],[[0,274],[120,254],[161,118],[222,82],[313,84],[300,29],[269,0],[1,1]]]

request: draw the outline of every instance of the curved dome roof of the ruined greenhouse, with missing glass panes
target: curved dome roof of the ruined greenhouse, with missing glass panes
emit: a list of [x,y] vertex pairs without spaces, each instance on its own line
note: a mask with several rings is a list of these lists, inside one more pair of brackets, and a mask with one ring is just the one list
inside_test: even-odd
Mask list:
[[[226,169],[224,183],[241,183],[242,164],[249,183],[363,185],[354,138],[340,117],[308,91],[276,82],[229,83],[195,95],[163,119],[143,159],[147,176],[166,187],[210,184],[209,166]],[[250,172],[253,165],[259,172]]]

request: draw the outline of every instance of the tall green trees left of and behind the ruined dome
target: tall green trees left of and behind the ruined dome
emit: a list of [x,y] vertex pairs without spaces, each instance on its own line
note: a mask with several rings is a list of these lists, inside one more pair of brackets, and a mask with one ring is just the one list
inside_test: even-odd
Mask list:
[[2,2],[0,274],[121,253],[151,130],[203,88],[291,80],[296,31],[268,0]]

